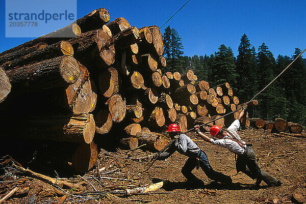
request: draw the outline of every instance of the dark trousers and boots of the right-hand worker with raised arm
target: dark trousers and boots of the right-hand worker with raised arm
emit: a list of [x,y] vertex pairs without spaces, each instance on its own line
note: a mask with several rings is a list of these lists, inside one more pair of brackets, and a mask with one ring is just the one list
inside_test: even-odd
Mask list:
[[256,155],[249,147],[242,155],[237,156],[236,169],[237,173],[242,171],[251,179],[263,180],[268,186],[275,185],[277,182],[276,178],[260,169],[256,161]]

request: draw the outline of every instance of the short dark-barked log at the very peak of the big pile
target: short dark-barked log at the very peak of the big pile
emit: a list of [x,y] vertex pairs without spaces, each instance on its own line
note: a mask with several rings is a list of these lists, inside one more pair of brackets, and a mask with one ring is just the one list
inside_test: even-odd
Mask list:
[[95,9],[89,14],[79,18],[77,24],[83,33],[102,28],[110,21],[110,14],[106,8]]

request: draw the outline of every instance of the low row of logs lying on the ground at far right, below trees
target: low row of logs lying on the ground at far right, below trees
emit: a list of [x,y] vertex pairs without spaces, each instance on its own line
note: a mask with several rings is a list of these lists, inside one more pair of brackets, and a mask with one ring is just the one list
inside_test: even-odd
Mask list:
[[260,129],[264,128],[269,132],[279,133],[289,131],[290,133],[300,134],[303,131],[303,126],[293,122],[287,122],[284,119],[278,118],[272,121],[264,121],[260,118],[249,119],[250,126]]

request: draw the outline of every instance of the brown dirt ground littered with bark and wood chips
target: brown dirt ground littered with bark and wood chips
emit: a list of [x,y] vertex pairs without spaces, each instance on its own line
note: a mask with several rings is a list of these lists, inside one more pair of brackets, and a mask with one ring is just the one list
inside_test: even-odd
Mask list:
[[[189,136],[195,138],[193,133]],[[100,191],[100,195],[85,195],[69,189],[64,189],[65,194],[56,187],[34,178],[25,177],[24,174],[14,172],[12,169],[10,171],[9,168],[2,168],[0,195],[6,195],[17,186],[24,192],[17,192],[7,200],[7,203],[299,203],[292,198],[292,195],[299,196],[299,201],[304,202],[303,199],[306,198],[306,138],[276,136],[262,129],[252,128],[240,131],[240,136],[247,143],[253,144],[252,148],[257,155],[259,166],[272,176],[281,179],[284,182],[282,186],[268,187],[262,182],[259,188],[255,187],[255,181],[242,173],[237,174],[233,153],[210,143],[197,141],[201,150],[208,155],[211,166],[216,171],[231,176],[234,185],[227,186],[212,182],[201,169],[194,169],[193,173],[202,179],[205,185],[188,184],[181,173],[187,157],[177,152],[165,161],[155,162],[148,171],[142,172],[148,160],[134,161],[123,157],[144,157],[153,153],[142,150],[130,152],[117,150],[110,152],[117,157],[100,154],[96,166],[90,172],[81,175],[86,182],[81,177],[77,178],[75,173],[65,179],[71,183],[82,181],[85,187],[82,192],[95,189]],[[41,166],[45,164],[42,163]],[[97,173],[98,167],[100,174],[118,168],[102,176],[117,179],[100,180]],[[47,173],[39,171],[39,168],[36,168],[35,171]],[[61,172],[61,169],[57,169],[56,172],[59,178],[63,178],[64,173]],[[49,176],[55,177],[54,172],[49,173]],[[167,182],[154,194],[121,196],[105,193],[105,191],[117,190],[115,186],[134,185],[131,186],[134,188],[160,181]],[[106,188],[103,188],[102,185]],[[63,202],[60,202],[61,198]]]

